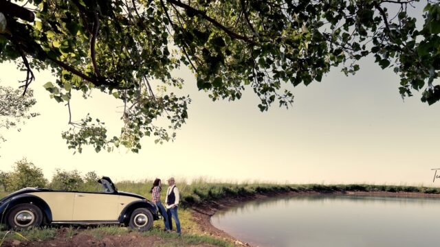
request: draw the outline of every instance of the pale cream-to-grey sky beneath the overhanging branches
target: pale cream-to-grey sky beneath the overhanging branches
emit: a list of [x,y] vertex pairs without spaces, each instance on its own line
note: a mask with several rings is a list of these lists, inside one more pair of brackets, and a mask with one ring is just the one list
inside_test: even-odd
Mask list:
[[[139,154],[123,148],[113,153],[83,154],[68,150],[61,132],[69,126],[64,104],[43,89],[54,82],[50,73],[36,73],[31,84],[41,116],[22,131],[1,130],[8,139],[0,146],[0,169],[27,157],[43,168],[47,178],[54,169],[95,170],[113,180],[144,178],[190,179],[204,176],[225,181],[261,180],[278,183],[375,183],[439,186],[432,168],[439,168],[440,104],[428,106],[420,93],[403,101],[399,78],[382,71],[373,59],[360,62],[360,71],[346,77],[333,68],[322,82],[294,89],[289,110],[274,105],[261,113],[259,99],[248,88],[237,102],[212,102],[197,91],[187,69],[179,71],[190,95],[189,119],[175,142],[154,144],[142,140]],[[35,71],[36,72],[36,71]],[[17,88],[25,74],[14,64],[0,64],[0,83]],[[94,93],[72,99],[74,120],[91,113],[118,134],[121,103],[111,95]]]

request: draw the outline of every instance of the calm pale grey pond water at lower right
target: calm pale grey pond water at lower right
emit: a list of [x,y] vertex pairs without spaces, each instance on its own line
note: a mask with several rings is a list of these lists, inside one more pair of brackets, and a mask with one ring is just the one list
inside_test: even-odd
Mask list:
[[295,196],[219,211],[212,224],[254,246],[439,246],[440,199]]

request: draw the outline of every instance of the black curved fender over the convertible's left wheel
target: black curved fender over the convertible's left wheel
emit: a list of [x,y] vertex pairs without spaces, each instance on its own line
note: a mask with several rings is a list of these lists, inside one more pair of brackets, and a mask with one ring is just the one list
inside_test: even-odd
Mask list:
[[5,221],[5,216],[8,215],[8,211],[12,209],[12,207],[21,203],[30,203],[34,204],[36,207],[39,207],[44,215],[44,223],[50,224],[50,222],[52,222],[52,211],[50,210],[49,205],[47,205],[47,203],[38,196],[28,194],[14,196],[13,198],[10,198],[9,200],[0,204],[1,222],[3,223]]

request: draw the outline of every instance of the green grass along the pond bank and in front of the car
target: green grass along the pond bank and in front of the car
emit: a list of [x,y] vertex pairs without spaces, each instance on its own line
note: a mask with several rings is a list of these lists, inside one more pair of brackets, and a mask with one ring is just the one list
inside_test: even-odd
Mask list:
[[[152,181],[121,181],[116,183],[118,190],[137,193],[146,198],[150,198],[150,189]],[[419,193],[440,193],[440,188],[434,187],[415,187],[406,185],[277,185],[270,183],[214,183],[207,180],[199,179],[193,180],[192,183],[180,181],[177,184],[181,191],[181,209],[179,210],[179,218],[181,220],[184,235],[181,238],[176,234],[166,234],[161,231],[164,228],[162,221],[155,222],[153,230],[142,235],[154,235],[160,239],[164,239],[166,244],[162,246],[197,246],[203,244],[210,244],[212,246],[233,246],[232,242],[210,237],[202,233],[197,223],[192,220],[191,206],[195,206],[201,202],[209,202],[220,198],[234,198],[239,196],[254,196],[261,193],[283,193],[289,191],[297,192],[343,192],[343,191],[387,191],[387,192],[419,192]],[[88,189],[89,190],[89,189]],[[91,190],[91,189],[90,189]],[[89,190],[89,191],[90,191]],[[166,189],[162,190],[162,198]],[[0,198],[8,194],[1,192]],[[56,236],[57,228],[41,228],[32,229],[21,233],[8,233],[7,231],[0,231],[0,239],[17,239],[19,241],[43,241]],[[104,235],[122,235],[129,233],[129,229],[119,226],[102,226],[98,228],[87,228],[78,230],[76,228],[69,228],[66,236],[76,235],[78,231],[82,231],[96,239],[102,238]],[[0,244],[1,246],[1,244]]]

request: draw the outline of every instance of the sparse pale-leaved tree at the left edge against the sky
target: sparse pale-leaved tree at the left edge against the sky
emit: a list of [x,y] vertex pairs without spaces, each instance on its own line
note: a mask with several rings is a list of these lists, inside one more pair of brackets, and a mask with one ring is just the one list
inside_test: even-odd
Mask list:
[[[30,113],[36,100],[32,89],[25,91],[12,89],[10,86],[0,86],[0,128],[19,128],[25,119],[36,117],[39,113]],[[0,141],[5,141],[0,134]]]

